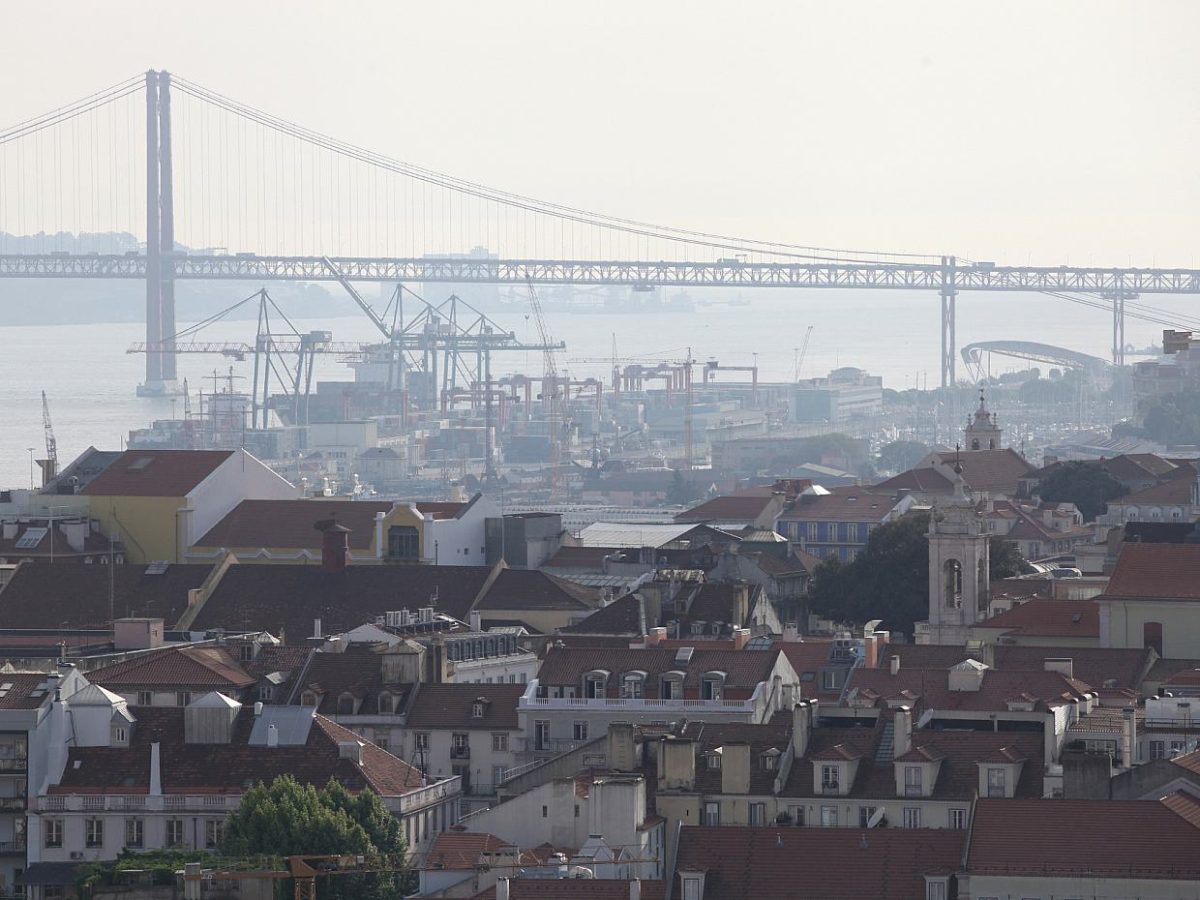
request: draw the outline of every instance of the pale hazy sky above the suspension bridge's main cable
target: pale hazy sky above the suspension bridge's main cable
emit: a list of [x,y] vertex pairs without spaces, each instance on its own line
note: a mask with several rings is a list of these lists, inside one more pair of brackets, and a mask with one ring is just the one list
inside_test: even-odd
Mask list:
[[166,68],[620,216],[1014,264],[1198,265],[1200,5],[4,4],[0,126]]

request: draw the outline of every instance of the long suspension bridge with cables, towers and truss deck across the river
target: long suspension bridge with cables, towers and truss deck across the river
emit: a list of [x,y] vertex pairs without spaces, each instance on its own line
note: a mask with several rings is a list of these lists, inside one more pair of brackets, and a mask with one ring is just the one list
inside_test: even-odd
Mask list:
[[[1006,266],[592,212],[406,163],[162,71],[0,131],[0,277],[144,281],[148,394],[175,390],[175,282],[196,278],[336,282],[360,306],[356,282],[929,290],[943,386],[956,378],[960,292],[1110,310],[1117,365],[1127,301],[1200,294],[1196,269]],[[1139,307],[1147,317],[1192,323]]]

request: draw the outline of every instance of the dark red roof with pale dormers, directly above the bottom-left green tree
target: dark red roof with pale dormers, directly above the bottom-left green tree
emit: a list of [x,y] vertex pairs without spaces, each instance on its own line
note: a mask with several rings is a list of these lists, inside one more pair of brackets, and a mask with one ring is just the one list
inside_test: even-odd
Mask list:
[[[350,791],[370,788],[383,796],[397,796],[421,786],[421,773],[403,760],[365,743],[353,732],[317,715],[307,742],[298,746],[251,745],[254,721],[251,708],[242,708],[234,722],[229,744],[188,744],[184,739],[184,709],[139,707],[127,748],[71,748],[67,766],[52,793],[148,793],[150,788],[150,744],[161,745],[163,793],[240,794],[256,781],[270,781],[287,772],[316,786],[331,778]],[[362,764],[341,758],[338,742],[360,742]]]

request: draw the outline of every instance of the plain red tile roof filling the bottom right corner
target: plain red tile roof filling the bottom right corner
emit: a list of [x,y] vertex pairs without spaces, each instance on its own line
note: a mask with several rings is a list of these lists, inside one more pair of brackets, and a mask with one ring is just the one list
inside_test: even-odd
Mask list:
[[[1146,800],[980,799],[972,875],[1200,878],[1200,829]],[[1100,893],[1104,893],[1103,890]]]

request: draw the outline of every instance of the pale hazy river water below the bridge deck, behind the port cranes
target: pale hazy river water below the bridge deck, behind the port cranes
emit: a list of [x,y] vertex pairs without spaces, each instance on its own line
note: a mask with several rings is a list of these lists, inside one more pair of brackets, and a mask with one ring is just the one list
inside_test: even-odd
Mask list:
[[[245,295],[238,288],[234,293]],[[896,390],[932,388],[938,380],[938,299],[925,292],[810,290],[781,293],[748,290],[746,306],[712,304],[692,313],[547,313],[556,340],[566,342],[559,370],[576,377],[602,376],[605,364],[572,362],[578,358],[612,354],[613,336],[622,356],[683,358],[686,348],[698,360],[716,358],[726,365],[752,365],[757,354],[762,380],[784,380],[793,374],[796,350],[812,325],[812,337],[802,377],[826,374],[836,366],[858,366],[881,374]],[[1146,302],[1195,314],[1195,300],[1151,298]],[[1133,308],[1134,304],[1130,304]],[[521,306],[492,313],[506,330],[536,341],[533,320]],[[328,329],[337,341],[378,340],[365,317],[298,319],[300,330]],[[1136,347],[1158,342],[1162,325],[1128,320],[1126,340]],[[218,322],[204,340],[253,342],[254,323]],[[89,444],[101,449],[122,446],[130,428],[154,419],[182,414],[181,401],[137,397],[145,360],[125,350],[144,340],[142,325],[5,325],[0,314],[0,486],[20,487],[30,481],[30,454],[44,454],[41,391],[50,402],[64,464]],[[1111,317],[1058,299],[1037,294],[964,294],[958,300],[958,341],[964,346],[984,340],[1026,340],[1068,347],[1108,358],[1111,353]],[[238,384],[248,390],[252,362],[233,362]],[[185,355],[179,374],[187,377],[193,396],[202,386],[212,390],[212,374],[229,372],[222,356]],[[996,358],[992,373],[1025,366]],[[493,377],[511,371],[540,372],[538,354],[497,354]],[[352,373],[336,358],[318,358],[318,378],[349,380]],[[965,377],[960,365],[960,377]],[[744,377],[730,374],[728,378]]]

